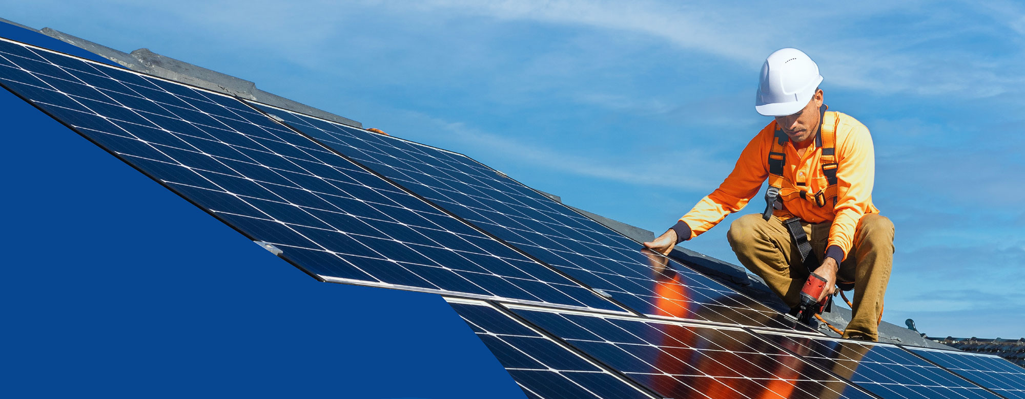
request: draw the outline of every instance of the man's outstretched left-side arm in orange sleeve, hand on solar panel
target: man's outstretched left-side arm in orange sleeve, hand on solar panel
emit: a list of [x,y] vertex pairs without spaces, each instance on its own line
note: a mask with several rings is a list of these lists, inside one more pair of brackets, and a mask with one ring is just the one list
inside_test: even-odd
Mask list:
[[676,243],[708,231],[727,215],[743,209],[747,202],[757,194],[762,182],[769,176],[766,158],[772,144],[770,140],[775,130],[774,126],[770,123],[747,143],[740,152],[733,172],[719,188],[701,198],[672,228],[657,238],[645,242],[645,247],[660,254],[668,254]]

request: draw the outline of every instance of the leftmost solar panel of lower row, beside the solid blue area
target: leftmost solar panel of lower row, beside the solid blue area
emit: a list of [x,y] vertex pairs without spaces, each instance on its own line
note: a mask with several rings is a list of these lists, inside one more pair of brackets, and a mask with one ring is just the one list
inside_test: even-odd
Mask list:
[[652,397],[486,303],[446,300],[530,398]]

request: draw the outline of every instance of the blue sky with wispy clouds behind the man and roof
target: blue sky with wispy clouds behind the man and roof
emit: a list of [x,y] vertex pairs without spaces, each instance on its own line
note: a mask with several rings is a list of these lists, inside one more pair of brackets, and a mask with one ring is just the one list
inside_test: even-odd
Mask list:
[[[885,318],[1025,336],[1025,6],[412,3],[4,0],[0,16],[251,80],[656,231],[770,122],[758,68],[797,47],[830,108],[872,132],[874,202],[897,226]],[[726,230],[686,246],[733,261]]]

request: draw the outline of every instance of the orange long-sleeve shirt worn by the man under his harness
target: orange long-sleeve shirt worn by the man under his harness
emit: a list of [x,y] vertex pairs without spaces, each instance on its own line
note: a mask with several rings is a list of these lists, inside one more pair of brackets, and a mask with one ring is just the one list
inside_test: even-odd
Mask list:
[[[842,113],[834,113],[838,119],[836,127],[836,206],[818,207],[799,197],[784,199],[783,210],[774,215],[780,218],[799,217],[811,223],[832,221],[829,228],[827,256],[837,258],[837,263],[850,253],[854,242],[855,228],[861,217],[879,211],[872,205],[872,184],[875,180],[875,150],[868,128],[856,119]],[[727,215],[740,211],[747,202],[758,194],[762,183],[769,177],[769,151],[776,130],[776,122],[769,123],[744,147],[733,172],[694,208],[680,218],[673,227],[680,240],[687,240],[708,231],[723,221]],[[793,183],[808,182],[811,192],[817,192],[827,185],[822,174],[822,147],[812,144],[804,157],[797,157],[793,143],[787,141],[786,165],[783,178]],[[835,247],[835,248],[834,248]],[[842,253],[837,254],[837,251]]]

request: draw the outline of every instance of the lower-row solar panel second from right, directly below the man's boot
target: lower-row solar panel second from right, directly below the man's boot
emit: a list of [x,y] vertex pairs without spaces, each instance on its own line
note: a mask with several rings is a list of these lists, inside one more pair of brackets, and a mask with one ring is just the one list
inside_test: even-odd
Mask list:
[[895,345],[762,336],[884,399],[998,398]]

